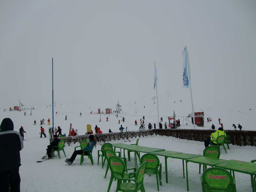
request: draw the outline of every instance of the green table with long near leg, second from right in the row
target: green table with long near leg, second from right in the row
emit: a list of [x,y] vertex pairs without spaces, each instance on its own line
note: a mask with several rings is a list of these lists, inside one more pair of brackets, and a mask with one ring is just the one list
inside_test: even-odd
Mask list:
[[209,166],[215,166],[217,164],[222,163],[223,161],[226,161],[224,159],[217,159],[217,158],[211,158],[211,157],[205,157],[205,156],[200,156],[200,157],[195,157],[195,158],[190,158],[186,159],[186,179],[187,179],[187,191],[189,190],[188,187],[188,174],[187,174],[187,163],[192,162],[192,163],[198,163],[202,165],[209,165]]

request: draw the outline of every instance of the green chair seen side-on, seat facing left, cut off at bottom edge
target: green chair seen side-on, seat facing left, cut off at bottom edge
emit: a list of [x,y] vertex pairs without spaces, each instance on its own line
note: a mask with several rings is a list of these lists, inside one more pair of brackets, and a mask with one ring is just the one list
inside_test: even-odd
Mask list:
[[[141,166],[138,168],[138,171],[136,172],[134,179],[118,178],[116,192],[118,191],[137,192],[139,190],[141,192],[145,192],[143,179],[144,179],[144,174],[145,174],[147,164],[148,164],[147,161],[141,164]],[[124,181],[125,183],[122,183],[122,181]],[[128,183],[126,183],[126,181],[128,181]],[[131,181],[134,183],[131,183]]]

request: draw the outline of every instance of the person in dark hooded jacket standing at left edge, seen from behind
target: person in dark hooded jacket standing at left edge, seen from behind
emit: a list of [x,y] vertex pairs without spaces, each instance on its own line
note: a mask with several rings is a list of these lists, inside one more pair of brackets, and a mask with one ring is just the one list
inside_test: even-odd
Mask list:
[[23,140],[10,118],[3,119],[0,125],[0,189],[1,192],[20,191],[21,166],[20,151],[23,149]]

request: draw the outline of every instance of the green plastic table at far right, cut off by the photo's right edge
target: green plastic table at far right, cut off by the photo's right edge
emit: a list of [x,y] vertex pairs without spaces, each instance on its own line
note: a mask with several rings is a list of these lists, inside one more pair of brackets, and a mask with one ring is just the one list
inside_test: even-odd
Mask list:
[[251,176],[252,191],[255,192],[255,189],[254,189],[255,186],[254,186],[254,182],[253,182],[253,174],[256,175],[255,174],[255,172],[256,172],[256,164],[255,163],[231,159],[231,160],[225,160],[222,163],[216,165],[215,167],[220,167],[220,168],[224,168],[224,169],[233,171],[233,177],[234,177],[234,171],[249,174]]

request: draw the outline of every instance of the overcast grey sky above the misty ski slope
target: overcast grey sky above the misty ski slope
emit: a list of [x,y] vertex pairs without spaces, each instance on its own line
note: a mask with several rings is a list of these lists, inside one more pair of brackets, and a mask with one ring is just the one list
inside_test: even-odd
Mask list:
[[[0,107],[180,94],[255,100],[256,1],[0,1]],[[185,96],[184,96],[185,95]]]

